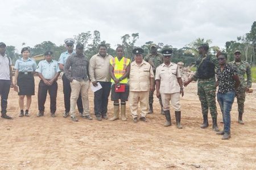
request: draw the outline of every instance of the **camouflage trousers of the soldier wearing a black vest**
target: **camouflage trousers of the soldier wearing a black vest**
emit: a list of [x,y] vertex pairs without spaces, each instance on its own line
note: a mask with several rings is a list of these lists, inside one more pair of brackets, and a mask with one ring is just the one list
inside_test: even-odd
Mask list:
[[212,118],[217,118],[216,87],[214,87],[214,84],[215,82],[198,83],[197,95],[201,102],[203,115],[208,115],[208,110],[210,109]]

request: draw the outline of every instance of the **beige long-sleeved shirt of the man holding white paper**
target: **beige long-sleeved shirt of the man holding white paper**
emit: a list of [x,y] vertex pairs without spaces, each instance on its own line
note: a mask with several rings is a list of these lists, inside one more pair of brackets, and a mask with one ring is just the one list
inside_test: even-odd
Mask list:
[[110,82],[109,64],[112,58],[109,54],[106,54],[106,57],[96,54],[90,58],[89,75],[92,82]]

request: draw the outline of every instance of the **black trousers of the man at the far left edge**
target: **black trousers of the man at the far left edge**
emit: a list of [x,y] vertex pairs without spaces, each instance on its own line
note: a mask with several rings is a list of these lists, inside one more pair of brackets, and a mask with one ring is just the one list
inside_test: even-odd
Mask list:
[[0,80],[1,113],[6,112],[11,80]]

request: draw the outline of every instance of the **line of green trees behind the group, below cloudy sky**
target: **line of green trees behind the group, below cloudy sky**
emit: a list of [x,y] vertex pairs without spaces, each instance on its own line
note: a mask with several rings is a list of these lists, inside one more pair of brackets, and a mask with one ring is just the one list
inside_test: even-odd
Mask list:
[[[111,46],[105,40],[101,40],[100,31],[87,31],[81,32],[78,35],[74,36],[74,39],[77,42],[81,42],[84,44],[85,56],[90,59],[94,54],[98,53],[98,45],[105,44],[108,47],[108,53],[112,56],[115,56],[115,48],[118,45],[122,45],[125,50],[125,55],[128,58],[132,58],[132,50],[134,49],[135,43],[139,39],[139,33],[132,33],[131,35],[126,34],[121,36],[122,44],[116,44]],[[197,52],[197,47],[204,42],[208,42],[209,45],[212,44],[212,40],[205,40],[198,38],[191,43],[185,45],[183,48],[177,49],[172,45],[164,44],[163,42],[153,42],[147,41],[144,45],[141,46],[144,49],[144,55],[150,53],[150,45],[156,44],[159,46],[159,52],[164,46],[171,47],[173,49],[173,57],[172,62],[182,61],[185,65],[189,66],[195,63],[196,58],[199,56]],[[26,43],[22,44],[26,46]],[[57,46],[51,41],[44,41],[40,44],[36,44],[31,48],[31,56],[37,56],[39,54],[43,54],[46,50],[51,50],[53,52],[53,56],[56,60],[59,59],[60,54],[63,53],[65,49],[65,45]],[[256,50],[256,22],[253,22],[251,25],[251,30],[245,35],[238,36],[237,40],[226,41],[225,49],[221,49],[218,46],[210,46],[209,53],[215,55],[218,50],[225,52],[228,54],[228,60],[233,60],[233,53],[235,50],[241,50],[242,59],[249,62],[251,65],[255,65],[255,50]],[[21,57],[21,55],[15,49],[15,46],[6,46],[6,53],[11,58],[13,63],[15,63],[16,59]]]

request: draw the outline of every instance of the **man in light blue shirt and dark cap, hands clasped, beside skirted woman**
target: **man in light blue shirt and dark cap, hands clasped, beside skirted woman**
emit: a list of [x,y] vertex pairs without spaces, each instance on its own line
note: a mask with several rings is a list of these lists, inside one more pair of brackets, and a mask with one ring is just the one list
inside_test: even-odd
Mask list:
[[52,59],[52,52],[44,53],[44,60],[40,61],[36,72],[41,79],[38,87],[38,117],[44,116],[44,103],[46,103],[47,91],[49,92],[51,102],[51,116],[55,117],[56,112],[56,97],[57,97],[57,78],[60,75],[60,69],[57,61]]

